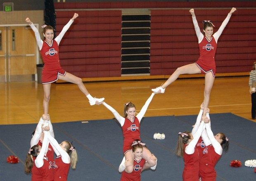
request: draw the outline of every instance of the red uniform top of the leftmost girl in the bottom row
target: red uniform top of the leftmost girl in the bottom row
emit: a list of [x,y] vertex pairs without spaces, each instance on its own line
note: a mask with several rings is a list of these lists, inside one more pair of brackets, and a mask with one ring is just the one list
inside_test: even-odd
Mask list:
[[37,168],[35,165],[36,157],[33,157],[33,168],[32,168],[32,177],[31,181],[53,181],[53,169],[50,162],[47,161],[47,158],[43,159],[43,166]]

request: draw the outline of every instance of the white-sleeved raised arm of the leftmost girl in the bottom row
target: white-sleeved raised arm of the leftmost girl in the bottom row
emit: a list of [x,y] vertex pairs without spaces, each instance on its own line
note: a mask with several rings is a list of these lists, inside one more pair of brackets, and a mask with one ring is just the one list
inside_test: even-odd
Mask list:
[[35,165],[37,168],[40,168],[43,166],[43,157],[45,155],[45,152],[47,150],[47,142],[48,142],[48,131],[46,130],[49,130],[49,127],[46,126],[45,127],[45,131],[44,131],[44,139],[43,139],[43,144],[42,144],[42,147],[41,147],[41,150],[40,150],[40,153],[38,154],[38,156],[36,157],[36,160],[35,160]]

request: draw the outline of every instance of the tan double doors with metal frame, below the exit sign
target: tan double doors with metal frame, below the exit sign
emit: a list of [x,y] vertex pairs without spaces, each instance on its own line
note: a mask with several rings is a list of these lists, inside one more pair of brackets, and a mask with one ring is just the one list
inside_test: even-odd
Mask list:
[[31,27],[1,25],[0,82],[35,81],[37,63],[38,47]]

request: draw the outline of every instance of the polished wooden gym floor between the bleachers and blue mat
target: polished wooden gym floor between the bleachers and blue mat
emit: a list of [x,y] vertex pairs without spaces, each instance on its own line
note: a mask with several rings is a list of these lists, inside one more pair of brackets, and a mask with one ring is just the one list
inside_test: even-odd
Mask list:
[[[140,81],[86,82],[93,97],[105,97],[119,114],[123,104],[133,102],[140,111],[152,88],[166,79]],[[249,77],[216,77],[210,98],[210,114],[230,112],[251,120]],[[156,94],[145,116],[180,116],[198,114],[203,101],[204,78],[178,79]],[[37,82],[0,83],[0,124],[37,123],[43,114],[43,86]],[[75,84],[52,84],[49,114],[53,123],[111,119],[104,106],[90,106],[87,97]],[[225,120],[223,120],[225,121]],[[253,120],[251,120],[253,121]]]

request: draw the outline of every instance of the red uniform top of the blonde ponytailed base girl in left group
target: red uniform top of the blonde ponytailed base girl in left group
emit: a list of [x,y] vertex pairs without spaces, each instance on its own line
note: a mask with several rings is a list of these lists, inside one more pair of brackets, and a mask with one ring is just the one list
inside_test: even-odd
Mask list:
[[66,181],[68,179],[70,163],[64,163],[59,155],[53,162],[54,181]]

